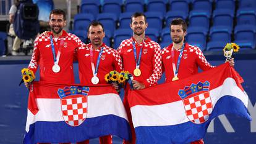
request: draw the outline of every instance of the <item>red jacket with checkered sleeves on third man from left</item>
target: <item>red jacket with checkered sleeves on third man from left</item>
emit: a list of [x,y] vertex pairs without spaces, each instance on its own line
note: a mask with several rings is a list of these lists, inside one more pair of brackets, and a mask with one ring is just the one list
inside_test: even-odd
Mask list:
[[[129,71],[129,73],[134,76],[133,72],[136,68],[136,62],[134,57],[134,47],[132,46],[133,41],[135,42],[138,60],[140,49],[142,49],[142,43],[138,44],[134,38],[122,41],[117,51],[122,58],[124,70]],[[161,48],[159,44],[146,37],[143,42],[142,57],[140,60],[140,70],[142,74],[140,76],[134,76],[134,79],[142,82],[145,87],[153,86],[157,84],[158,79],[161,78],[161,66]]]

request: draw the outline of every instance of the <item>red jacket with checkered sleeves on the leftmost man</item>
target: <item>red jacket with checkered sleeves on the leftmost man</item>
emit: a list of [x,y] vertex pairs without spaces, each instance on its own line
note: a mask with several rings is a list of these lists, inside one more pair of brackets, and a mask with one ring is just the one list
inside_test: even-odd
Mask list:
[[38,66],[40,66],[40,81],[74,83],[73,60],[75,49],[81,47],[83,43],[74,34],[67,33],[64,30],[62,31],[62,36],[58,38],[57,42],[53,41],[54,50],[57,55],[61,39],[63,39],[58,64],[61,70],[59,73],[54,73],[52,70],[54,58],[51,50],[50,35],[53,36],[51,32],[48,33],[48,36],[41,34],[35,39],[34,50],[28,68],[36,73]]

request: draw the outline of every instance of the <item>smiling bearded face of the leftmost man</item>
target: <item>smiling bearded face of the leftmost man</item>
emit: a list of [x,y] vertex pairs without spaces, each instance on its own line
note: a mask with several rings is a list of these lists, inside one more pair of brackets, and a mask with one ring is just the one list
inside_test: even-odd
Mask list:
[[66,26],[66,20],[64,20],[63,15],[51,14],[49,26],[51,26],[53,33],[59,34],[64,26]]

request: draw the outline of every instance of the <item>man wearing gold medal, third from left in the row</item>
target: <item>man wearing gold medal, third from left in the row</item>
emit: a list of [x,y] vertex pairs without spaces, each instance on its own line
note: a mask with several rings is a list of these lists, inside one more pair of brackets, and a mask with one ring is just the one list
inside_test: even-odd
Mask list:
[[[158,43],[145,36],[147,26],[148,23],[144,14],[139,12],[133,14],[130,20],[133,36],[122,41],[117,50],[122,58],[124,70],[129,71],[134,77],[132,83],[135,90],[155,86],[158,79],[161,78],[161,48]],[[131,143],[135,143],[135,131],[127,100],[129,89],[129,86],[125,89],[124,107],[132,130]]]

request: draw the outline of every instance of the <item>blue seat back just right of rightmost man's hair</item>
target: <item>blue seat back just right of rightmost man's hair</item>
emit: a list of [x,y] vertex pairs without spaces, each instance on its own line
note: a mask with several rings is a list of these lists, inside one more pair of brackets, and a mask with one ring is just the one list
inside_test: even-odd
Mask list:
[[210,14],[204,11],[192,10],[189,14],[189,26],[200,26],[209,29]]

